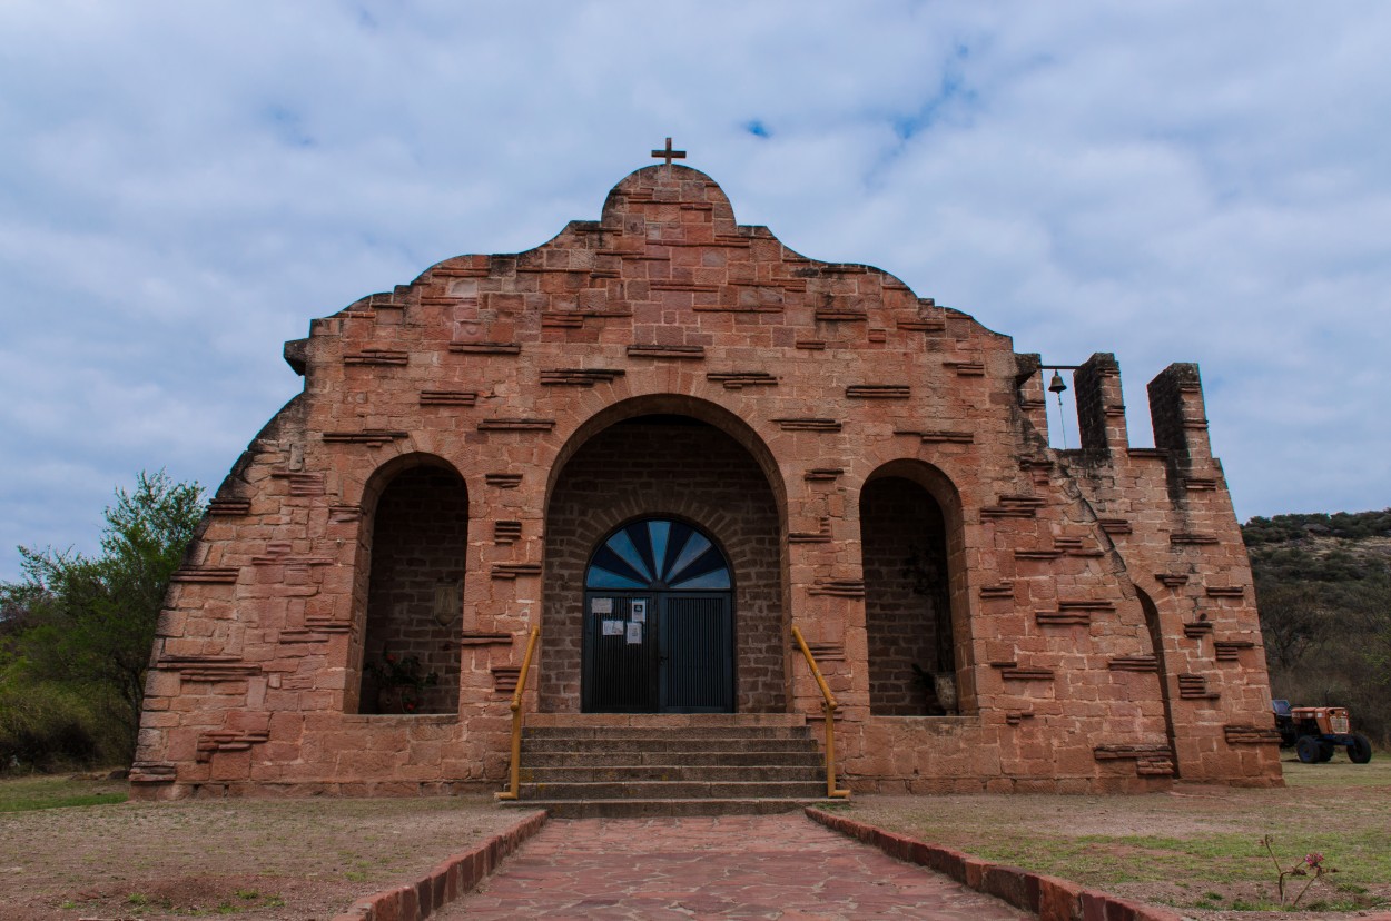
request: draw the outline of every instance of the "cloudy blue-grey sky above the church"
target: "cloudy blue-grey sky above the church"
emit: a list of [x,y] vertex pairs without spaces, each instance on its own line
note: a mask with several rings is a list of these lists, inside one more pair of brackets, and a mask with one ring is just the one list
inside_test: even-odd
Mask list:
[[[1237,513],[1391,505],[1391,4],[0,6],[0,579],[216,488],[281,342],[672,135],[817,259],[1074,365],[1199,362]],[[1075,431],[1075,420],[1070,422]]]

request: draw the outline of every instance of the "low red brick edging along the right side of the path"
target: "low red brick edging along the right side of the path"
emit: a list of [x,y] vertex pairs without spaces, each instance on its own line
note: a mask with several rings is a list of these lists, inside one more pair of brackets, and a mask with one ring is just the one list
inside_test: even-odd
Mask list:
[[995,864],[940,844],[928,844],[812,806],[807,807],[807,817],[832,831],[878,847],[890,857],[926,867],[970,889],[1002,899],[1022,911],[1031,911],[1039,921],[1181,921],[1173,911],[1128,902],[1096,889],[1084,889],[1057,876]]

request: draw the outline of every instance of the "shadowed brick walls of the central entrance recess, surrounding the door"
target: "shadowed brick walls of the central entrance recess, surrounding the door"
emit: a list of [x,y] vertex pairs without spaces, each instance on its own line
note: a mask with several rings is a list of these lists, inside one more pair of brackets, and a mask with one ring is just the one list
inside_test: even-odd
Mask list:
[[[718,412],[711,408],[709,415]],[[594,703],[584,675],[586,625],[619,618],[590,609],[591,559],[620,531],[634,545],[651,540],[650,530],[634,537],[629,526],[669,522],[672,531],[680,526],[701,534],[729,570],[733,690],[723,710],[785,712],[780,515],[750,449],[722,427],[662,412],[619,417],[563,456],[547,504],[540,710],[579,712]],[[615,609],[622,604],[615,601]],[[650,608],[648,623],[657,615]],[[644,626],[644,641],[647,634]],[[707,678],[722,680],[718,673]],[[645,707],[659,711],[661,694]]]

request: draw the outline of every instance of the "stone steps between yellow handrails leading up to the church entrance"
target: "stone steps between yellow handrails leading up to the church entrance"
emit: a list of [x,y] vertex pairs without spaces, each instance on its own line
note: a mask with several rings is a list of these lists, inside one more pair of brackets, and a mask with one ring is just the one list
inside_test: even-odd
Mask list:
[[533,714],[510,807],[556,818],[786,812],[826,799],[797,714]]

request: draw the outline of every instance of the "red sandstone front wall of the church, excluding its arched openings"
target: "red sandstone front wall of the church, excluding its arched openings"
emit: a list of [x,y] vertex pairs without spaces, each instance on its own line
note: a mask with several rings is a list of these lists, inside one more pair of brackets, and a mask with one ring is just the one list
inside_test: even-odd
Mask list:
[[[1114,360],[1096,356],[1077,376],[1084,448],[1052,451],[1036,358],[879,270],[737,225],[676,166],[627,177],[600,221],[544,246],[451,259],[316,320],[287,359],[305,394],[218,490],[170,591],[132,775],[146,794],[501,779],[524,637],[565,618],[545,552],[555,579],[577,559],[562,470],[644,413],[707,423],[762,473],[779,545],[747,559],[766,570],[776,550],[779,630],[797,623],[823,659],[855,787],[1278,782],[1249,566],[1192,366],[1152,385],[1159,447],[1136,449]],[[458,714],[353,715],[363,515],[420,458],[469,497]],[[871,714],[858,497],[876,472],[943,509],[960,716]],[[771,618],[772,594],[759,604]],[[573,691],[556,632],[548,701]],[[814,718],[801,662],[758,655]],[[776,705],[771,687],[741,687],[740,705]]]

